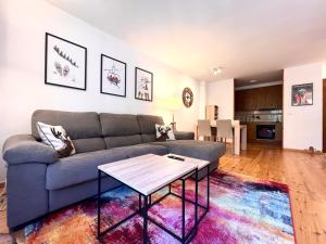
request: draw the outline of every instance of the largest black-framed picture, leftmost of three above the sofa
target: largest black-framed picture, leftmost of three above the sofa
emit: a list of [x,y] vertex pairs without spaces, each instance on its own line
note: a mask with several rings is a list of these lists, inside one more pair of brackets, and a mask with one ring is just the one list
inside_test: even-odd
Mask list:
[[87,49],[46,33],[45,82],[86,90]]

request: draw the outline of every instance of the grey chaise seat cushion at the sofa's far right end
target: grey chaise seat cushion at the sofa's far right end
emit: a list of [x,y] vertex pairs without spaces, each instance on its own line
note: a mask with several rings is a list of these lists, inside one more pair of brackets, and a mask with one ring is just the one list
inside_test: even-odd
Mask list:
[[165,142],[151,142],[151,144],[163,145],[170,153],[198,159],[216,162],[225,154],[225,144],[211,141],[176,140]]

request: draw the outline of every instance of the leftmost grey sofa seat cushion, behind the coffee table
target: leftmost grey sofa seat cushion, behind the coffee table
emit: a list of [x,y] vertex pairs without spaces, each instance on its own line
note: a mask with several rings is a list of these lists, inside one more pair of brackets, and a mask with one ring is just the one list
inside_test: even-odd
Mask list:
[[122,150],[101,150],[96,152],[80,153],[61,158],[47,169],[48,190],[59,190],[98,177],[99,165],[125,159],[128,156]]

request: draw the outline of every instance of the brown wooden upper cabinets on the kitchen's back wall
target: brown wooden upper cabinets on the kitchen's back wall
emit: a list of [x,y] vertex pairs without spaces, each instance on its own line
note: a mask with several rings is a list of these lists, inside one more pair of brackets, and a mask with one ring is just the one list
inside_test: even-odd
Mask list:
[[236,111],[281,110],[283,85],[238,90],[235,92]]

